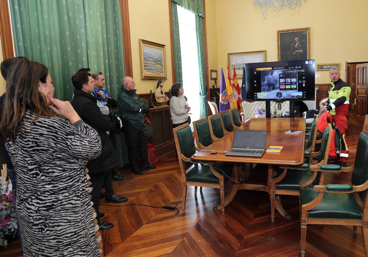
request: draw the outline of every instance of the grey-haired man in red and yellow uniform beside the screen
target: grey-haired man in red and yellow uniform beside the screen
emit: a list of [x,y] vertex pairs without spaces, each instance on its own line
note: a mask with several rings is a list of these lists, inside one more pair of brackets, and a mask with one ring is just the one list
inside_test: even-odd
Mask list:
[[328,100],[322,102],[324,105],[321,108],[321,112],[328,110],[333,115],[333,121],[335,126],[340,129],[342,134],[341,153],[340,153],[340,166],[346,167],[349,157],[349,148],[346,142],[346,130],[349,117],[349,98],[350,98],[350,86],[341,80],[340,70],[338,68],[330,69],[331,87],[328,91]]

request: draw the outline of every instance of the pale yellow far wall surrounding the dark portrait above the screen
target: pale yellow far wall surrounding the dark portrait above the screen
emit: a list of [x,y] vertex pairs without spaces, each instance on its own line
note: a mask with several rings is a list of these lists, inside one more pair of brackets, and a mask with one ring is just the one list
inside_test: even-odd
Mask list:
[[[251,0],[216,0],[218,62],[227,63],[228,53],[266,50],[267,61],[277,61],[280,29],[311,28],[311,59],[316,63],[340,63],[345,78],[345,61],[368,61],[368,1],[308,0],[295,10],[268,11],[262,17]],[[206,14],[207,4],[206,4]],[[328,83],[328,71],[316,71],[316,84]]]

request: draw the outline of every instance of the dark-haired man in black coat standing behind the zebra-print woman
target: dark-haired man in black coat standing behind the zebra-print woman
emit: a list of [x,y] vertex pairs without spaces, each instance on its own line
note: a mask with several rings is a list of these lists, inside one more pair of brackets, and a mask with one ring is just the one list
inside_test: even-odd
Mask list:
[[[112,129],[110,118],[107,115],[102,114],[98,106],[96,105],[96,97],[91,94],[95,90],[95,83],[92,75],[88,72],[77,72],[71,77],[71,81],[75,87],[74,98],[72,100],[72,106],[82,120],[94,128],[101,137],[102,152],[101,155],[87,163],[89,170],[88,175],[91,177],[92,183],[92,202],[98,214],[98,225],[101,230],[110,229],[114,225],[112,223],[102,222],[99,220],[103,215],[99,214],[99,200],[102,185],[106,175],[111,176],[110,170],[117,165],[115,157],[115,151],[111,144],[108,131]],[[111,178],[110,178],[111,182]],[[106,201],[114,203],[124,203],[128,201],[128,198],[118,196],[115,193],[107,195]]]

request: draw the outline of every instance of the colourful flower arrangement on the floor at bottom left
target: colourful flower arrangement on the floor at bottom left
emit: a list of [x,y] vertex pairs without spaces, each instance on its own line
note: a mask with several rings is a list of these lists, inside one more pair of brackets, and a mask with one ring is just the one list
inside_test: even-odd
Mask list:
[[17,235],[18,219],[15,211],[15,190],[11,182],[6,180],[6,167],[4,170],[1,170],[0,178],[0,246],[5,249],[8,246],[6,238],[13,239]]

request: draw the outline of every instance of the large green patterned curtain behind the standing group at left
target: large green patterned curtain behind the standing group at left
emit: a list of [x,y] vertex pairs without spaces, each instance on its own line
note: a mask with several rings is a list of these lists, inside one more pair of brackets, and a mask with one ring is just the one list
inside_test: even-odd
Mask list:
[[[54,97],[70,101],[71,76],[91,68],[105,76],[105,89],[117,99],[124,77],[119,0],[11,0],[16,56],[45,64]],[[113,110],[114,111],[114,110]],[[124,137],[117,137],[120,166],[127,163]]]

